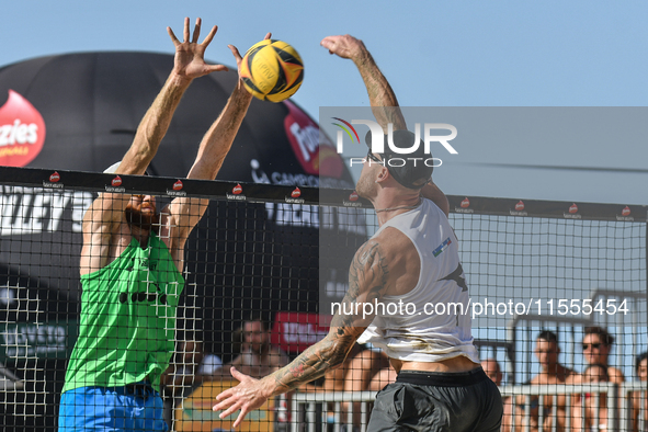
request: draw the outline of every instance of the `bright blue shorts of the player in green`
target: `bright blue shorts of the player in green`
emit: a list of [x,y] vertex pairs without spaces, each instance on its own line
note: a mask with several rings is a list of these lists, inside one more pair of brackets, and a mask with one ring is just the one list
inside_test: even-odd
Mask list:
[[58,431],[167,432],[162,398],[148,384],[80,387],[60,397]]

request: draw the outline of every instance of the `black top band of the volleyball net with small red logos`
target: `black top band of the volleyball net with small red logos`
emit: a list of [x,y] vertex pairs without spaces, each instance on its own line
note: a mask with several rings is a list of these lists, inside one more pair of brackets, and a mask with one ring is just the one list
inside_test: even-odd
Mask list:
[[[92,192],[147,193],[168,196],[206,197],[212,200],[243,200],[249,202],[281,201],[286,205],[329,205],[373,208],[371,203],[352,190],[288,186],[263,183],[237,183],[144,175],[118,175],[120,185],[113,185],[114,174],[37,168],[0,167],[0,183],[54,190]],[[181,187],[180,187],[181,185]],[[239,192],[240,191],[240,192]],[[245,193],[243,193],[245,191]],[[237,193],[238,192],[238,193]],[[485,214],[516,217],[555,217],[582,220],[647,221],[648,206],[576,203],[561,201],[490,198],[447,195],[451,213]]]

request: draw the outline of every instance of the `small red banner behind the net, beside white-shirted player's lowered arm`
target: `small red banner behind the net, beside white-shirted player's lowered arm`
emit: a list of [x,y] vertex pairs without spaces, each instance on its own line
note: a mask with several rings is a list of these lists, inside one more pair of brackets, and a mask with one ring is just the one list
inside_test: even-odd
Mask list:
[[328,323],[319,314],[277,312],[271,342],[286,353],[300,353],[327,336]]

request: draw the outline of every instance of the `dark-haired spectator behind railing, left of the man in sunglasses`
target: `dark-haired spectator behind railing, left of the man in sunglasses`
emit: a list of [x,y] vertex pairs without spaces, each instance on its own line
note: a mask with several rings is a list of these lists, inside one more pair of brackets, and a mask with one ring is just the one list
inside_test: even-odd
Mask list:
[[[558,363],[560,348],[556,333],[544,330],[535,340],[535,356],[541,364],[541,373],[531,379],[531,385],[549,384],[573,384],[578,374]],[[531,405],[531,417],[525,418],[526,403]],[[543,430],[553,431],[556,423],[556,431],[565,431],[567,419],[567,395],[547,395],[543,397]],[[556,405],[556,407],[554,407]],[[532,431],[539,430],[539,398],[533,396],[518,396],[515,401],[515,430],[520,424],[528,421]]]

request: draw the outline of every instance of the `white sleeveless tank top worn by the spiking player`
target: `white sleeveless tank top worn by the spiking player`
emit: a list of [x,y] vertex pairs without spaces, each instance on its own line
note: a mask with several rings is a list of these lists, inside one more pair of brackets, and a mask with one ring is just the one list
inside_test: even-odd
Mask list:
[[385,223],[374,237],[388,227],[400,230],[417,248],[419,282],[405,295],[384,296],[385,307],[377,307],[378,314],[359,342],[371,342],[389,357],[407,362],[465,355],[479,363],[470,336],[468,286],[445,214],[430,200],[422,200],[419,207]]

